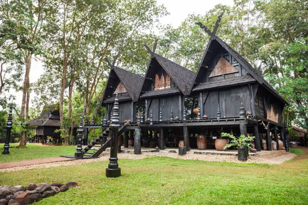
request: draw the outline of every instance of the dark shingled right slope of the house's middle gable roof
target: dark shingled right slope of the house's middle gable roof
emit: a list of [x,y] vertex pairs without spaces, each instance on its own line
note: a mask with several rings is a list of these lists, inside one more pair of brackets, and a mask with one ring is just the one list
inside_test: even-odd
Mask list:
[[166,72],[178,86],[178,88],[182,91],[182,93],[185,94],[185,87],[190,87],[195,73],[156,53],[155,57],[159,64],[163,67],[164,70],[166,70]]

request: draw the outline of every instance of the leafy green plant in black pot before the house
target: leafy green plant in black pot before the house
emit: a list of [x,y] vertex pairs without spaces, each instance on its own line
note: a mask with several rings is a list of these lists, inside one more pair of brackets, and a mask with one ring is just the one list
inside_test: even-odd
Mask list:
[[224,148],[235,146],[237,148],[237,159],[241,161],[247,161],[248,149],[251,149],[251,141],[255,138],[254,136],[240,135],[239,137],[230,135],[229,133],[221,133],[221,136],[228,136],[231,138],[229,144]]

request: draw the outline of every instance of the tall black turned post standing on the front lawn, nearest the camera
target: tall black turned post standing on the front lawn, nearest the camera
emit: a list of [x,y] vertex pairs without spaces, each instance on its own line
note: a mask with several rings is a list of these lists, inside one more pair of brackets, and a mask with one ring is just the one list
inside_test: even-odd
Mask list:
[[107,177],[121,176],[121,168],[118,164],[118,132],[120,128],[119,117],[119,99],[118,93],[115,95],[115,103],[113,104],[113,114],[111,117],[111,145],[110,145],[110,158],[108,168],[106,168]]

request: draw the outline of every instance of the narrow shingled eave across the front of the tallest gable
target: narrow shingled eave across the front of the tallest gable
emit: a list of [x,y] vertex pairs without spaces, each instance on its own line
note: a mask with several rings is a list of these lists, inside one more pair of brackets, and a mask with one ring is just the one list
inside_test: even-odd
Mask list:
[[200,83],[199,85],[193,88],[193,91],[226,87],[230,85],[241,85],[241,84],[250,83],[254,81],[256,81],[256,79],[254,79],[250,75],[230,77],[230,78],[221,79],[217,81],[209,81],[205,83]]

